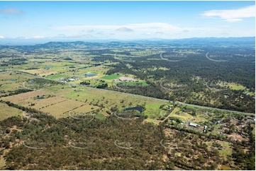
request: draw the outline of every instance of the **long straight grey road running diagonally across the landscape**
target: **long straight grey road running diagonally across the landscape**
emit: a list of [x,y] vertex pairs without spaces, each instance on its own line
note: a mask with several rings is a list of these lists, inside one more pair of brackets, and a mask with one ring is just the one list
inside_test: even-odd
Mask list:
[[[21,74],[28,75],[28,76],[34,76],[35,78],[43,78],[43,79],[46,79],[46,80],[55,81],[55,80],[52,80],[50,78],[45,78],[45,77],[41,77],[41,76],[35,76],[33,74],[23,73],[23,72],[20,72],[20,71],[14,71],[14,72],[15,73],[21,73]],[[63,83],[61,81],[55,81],[55,82]],[[68,84],[68,83],[66,83],[66,84]],[[84,87],[84,88],[91,88],[91,87],[81,86],[81,85],[76,85],[76,86]],[[114,91],[114,90],[106,90],[106,89],[101,89],[101,88],[91,88],[91,89],[104,90],[104,91],[109,91],[109,92],[114,92],[114,93],[123,93],[123,92],[118,92],[118,91]],[[134,95],[132,93],[123,93],[123,94]],[[141,98],[150,98],[150,97],[147,97],[147,96],[144,96],[144,95],[134,95],[134,96],[141,97]],[[159,98],[150,98],[150,99],[152,99],[152,100],[160,100],[162,102],[169,102],[169,100],[163,100],[163,99],[159,99]],[[175,102],[175,103],[176,104],[180,104],[180,105],[187,105],[187,106],[191,106],[191,107],[199,107],[199,108],[203,108],[203,109],[209,109],[209,110],[220,110],[220,111],[223,111],[223,112],[234,112],[234,113],[237,113],[237,114],[245,114],[245,115],[253,114],[253,115],[255,115],[254,113],[238,112],[238,111],[233,111],[233,110],[223,110],[223,109],[219,109],[219,108],[216,108],[216,107],[206,107],[206,106],[200,106],[200,105],[193,105],[193,104],[188,104],[188,103],[185,103],[185,102]]]

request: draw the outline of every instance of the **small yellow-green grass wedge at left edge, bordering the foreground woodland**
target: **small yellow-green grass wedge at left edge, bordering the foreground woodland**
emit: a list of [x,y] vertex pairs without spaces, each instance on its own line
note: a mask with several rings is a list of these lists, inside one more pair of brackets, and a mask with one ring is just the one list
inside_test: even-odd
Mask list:
[[0,120],[7,119],[9,117],[21,116],[22,110],[18,110],[14,107],[9,107],[4,103],[0,103]]

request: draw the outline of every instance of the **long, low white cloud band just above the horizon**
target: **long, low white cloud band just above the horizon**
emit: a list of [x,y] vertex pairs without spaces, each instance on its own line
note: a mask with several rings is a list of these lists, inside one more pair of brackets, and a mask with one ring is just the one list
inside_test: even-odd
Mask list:
[[[65,25],[50,27],[50,29],[65,33],[67,34],[67,37],[82,35],[78,33],[82,32],[83,30],[94,30],[94,32],[91,33],[91,35],[94,37],[99,36],[99,34],[97,33],[106,33],[104,35],[101,35],[101,38],[138,38],[143,36],[172,38],[175,37],[175,35],[182,33],[182,37],[193,37],[194,34],[198,32],[206,36],[215,36],[216,34],[223,33],[224,31],[221,27],[182,28],[182,26],[172,25],[169,23],[136,23],[126,25]],[[113,32],[115,34],[111,37],[108,37],[108,35],[112,35],[110,33]]]

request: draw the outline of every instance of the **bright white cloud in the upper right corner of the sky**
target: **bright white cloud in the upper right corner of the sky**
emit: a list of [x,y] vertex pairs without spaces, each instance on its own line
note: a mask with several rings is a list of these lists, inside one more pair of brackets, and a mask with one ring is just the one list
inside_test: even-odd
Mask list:
[[239,22],[243,20],[243,18],[255,17],[255,6],[246,6],[244,8],[230,10],[204,11],[201,15],[206,17],[217,16],[230,23]]

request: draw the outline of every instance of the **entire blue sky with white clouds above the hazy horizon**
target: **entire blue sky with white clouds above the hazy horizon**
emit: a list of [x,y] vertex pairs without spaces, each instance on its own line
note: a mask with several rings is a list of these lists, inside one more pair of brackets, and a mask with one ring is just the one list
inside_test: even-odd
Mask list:
[[0,39],[255,36],[255,1],[0,1]]

